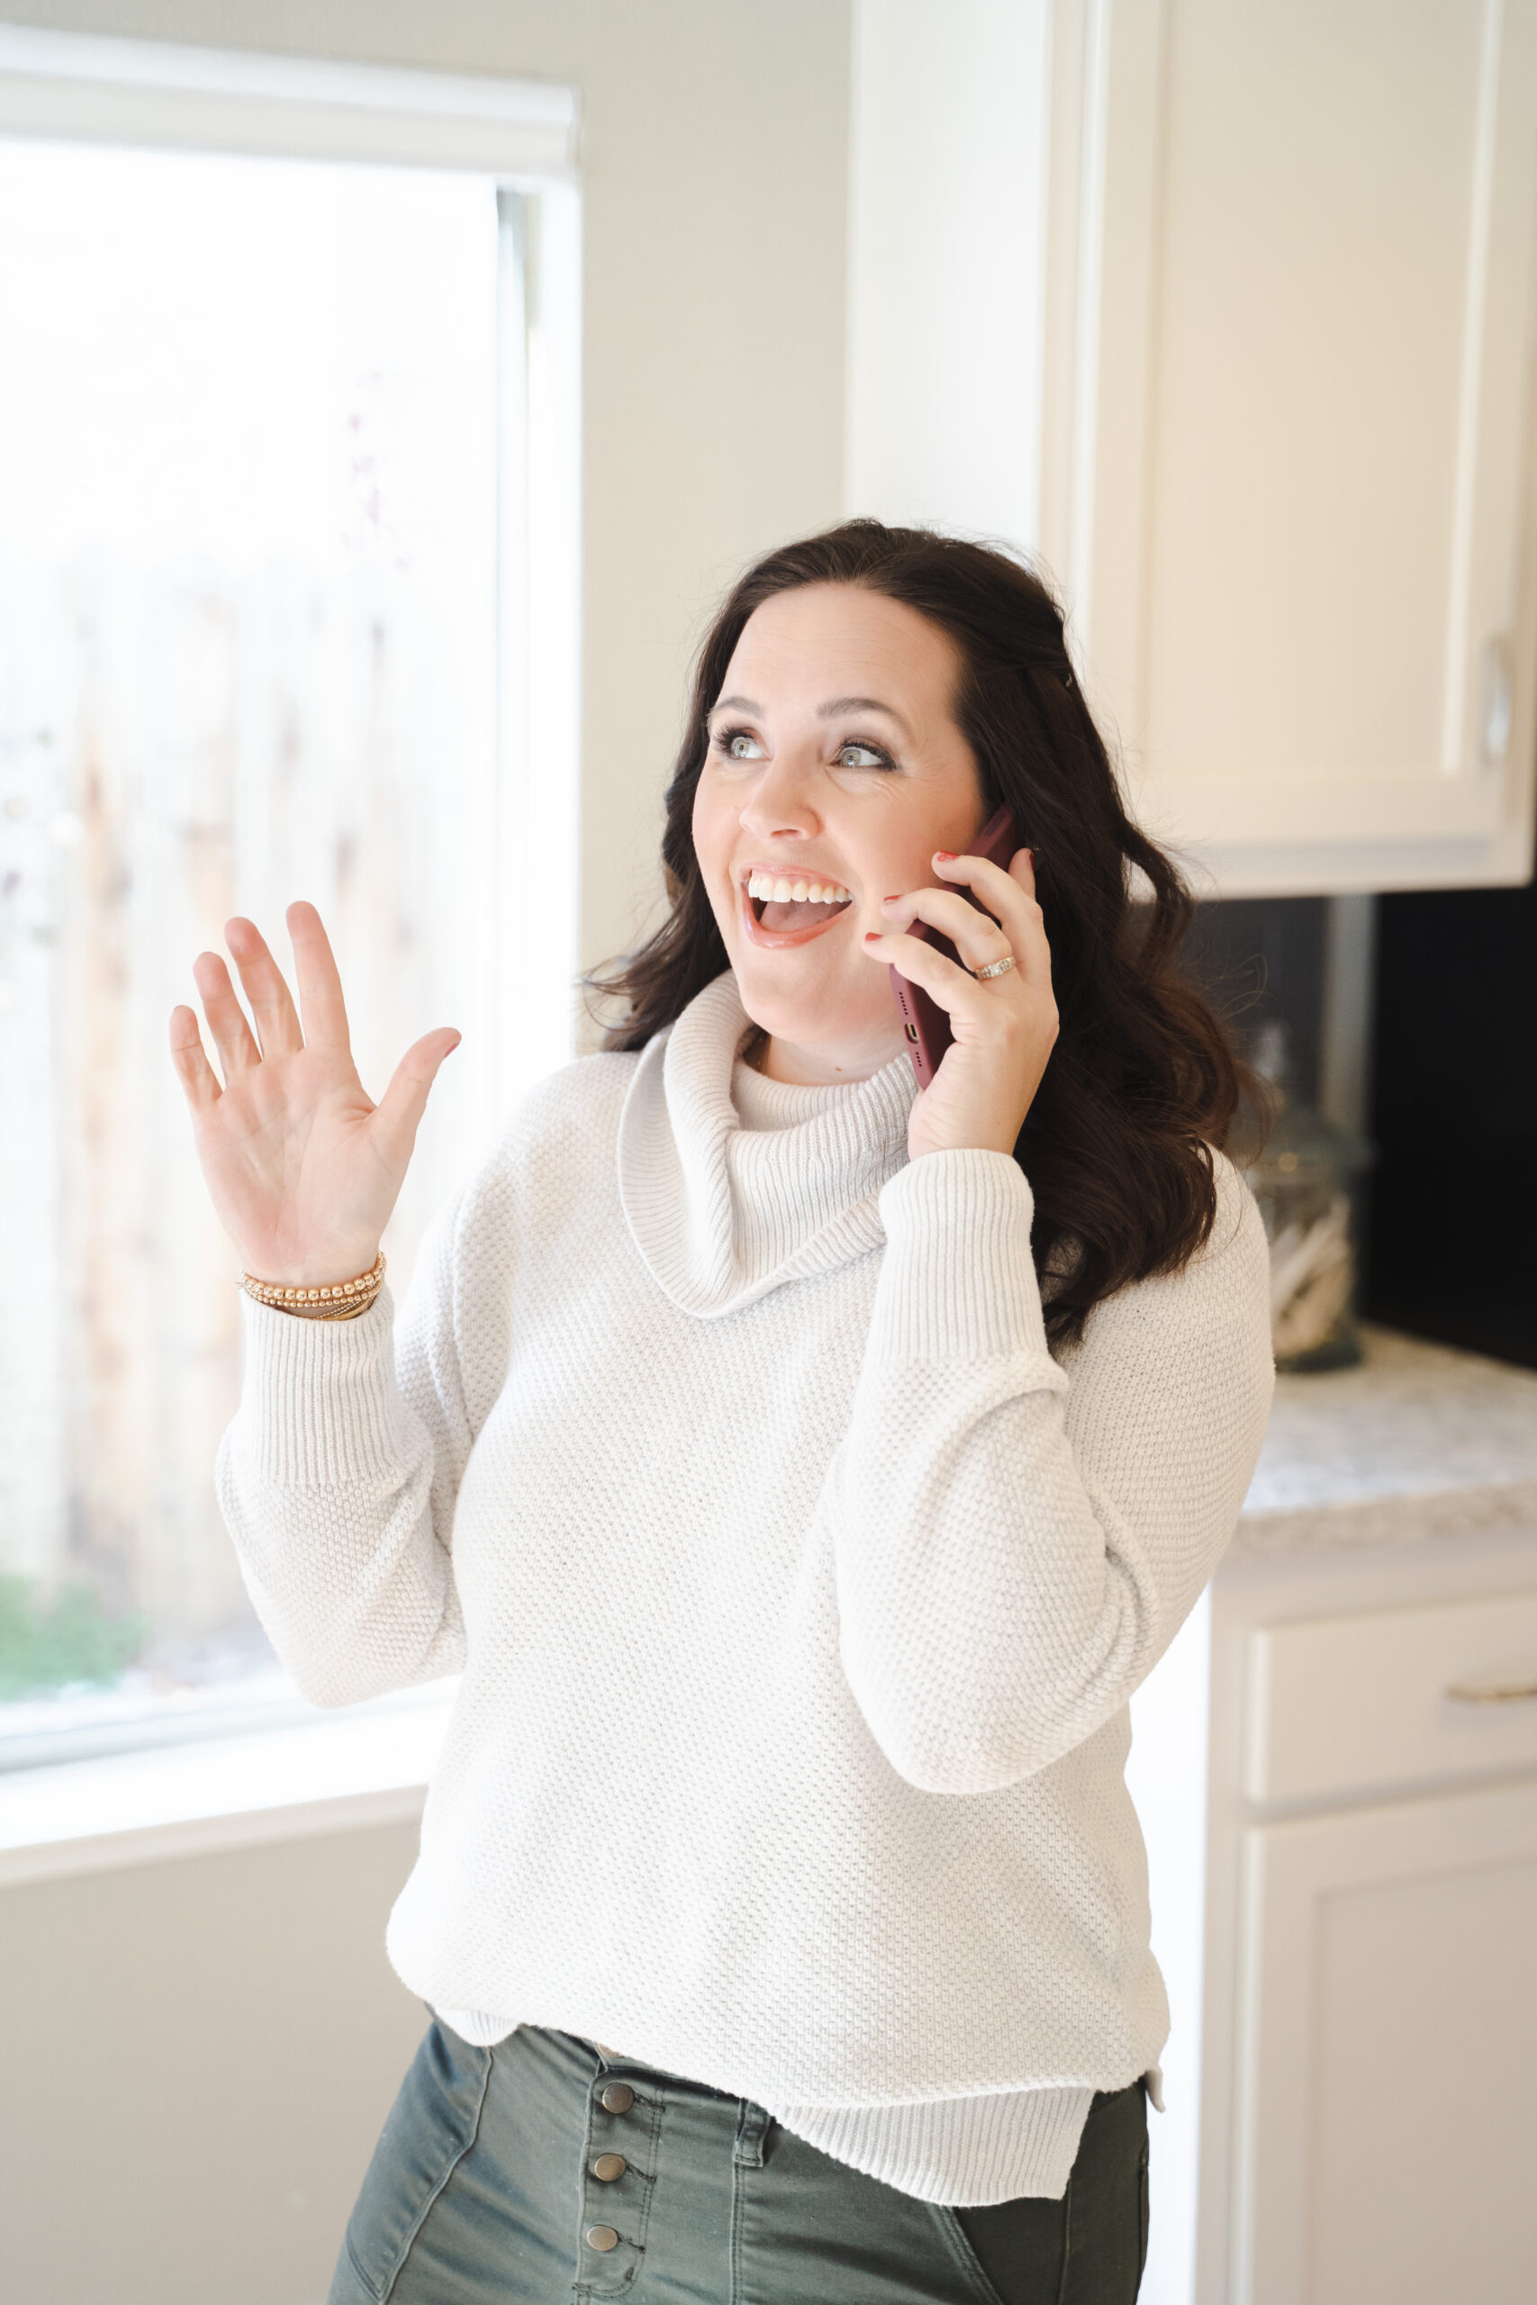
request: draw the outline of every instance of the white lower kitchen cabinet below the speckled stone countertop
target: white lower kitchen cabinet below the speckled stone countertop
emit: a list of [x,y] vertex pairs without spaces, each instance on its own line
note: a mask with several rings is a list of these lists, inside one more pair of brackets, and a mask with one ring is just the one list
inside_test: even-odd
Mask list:
[[[1433,1376],[1454,1360],[1417,1351]],[[1380,1450],[1371,1376],[1311,1381],[1355,1385],[1332,1473],[1284,1436],[1274,1487],[1300,1466],[1341,1494],[1318,1542],[1286,1507],[1274,1531],[1249,1514],[1131,1703],[1173,2024],[1141,2305],[1537,2298],[1537,1701],[1475,1701],[1537,1680],[1537,1519],[1512,1480],[1449,1491],[1484,1533],[1415,1535],[1447,1507],[1431,1489],[1399,1505],[1401,1542],[1346,1542]],[[1537,1383],[1500,1376],[1505,1399],[1417,1418],[1440,1424],[1422,1473],[1479,1415],[1489,1457],[1512,1418],[1507,1475],[1532,1459]],[[1284,1381],[1277,1424],[1313,1413],[1307,1383]],[[1376,1498],[1355,1510],[1369,1528]]]

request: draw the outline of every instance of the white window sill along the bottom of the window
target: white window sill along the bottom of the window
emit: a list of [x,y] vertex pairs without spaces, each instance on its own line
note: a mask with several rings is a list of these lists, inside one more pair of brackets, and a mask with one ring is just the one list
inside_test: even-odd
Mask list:
[[452,1694],[0,1777],[0,1888],[410,1823]]

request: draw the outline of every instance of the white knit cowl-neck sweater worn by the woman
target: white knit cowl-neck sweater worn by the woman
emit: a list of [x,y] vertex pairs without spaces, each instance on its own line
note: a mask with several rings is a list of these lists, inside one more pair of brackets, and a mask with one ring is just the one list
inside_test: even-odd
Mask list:
[[542,1083],[394,1337],[247,1302],[221,1505],[318,1703],[461,1673],[387,1934],[447,2024],[1060,2197],[1168,2031],[1127,1699],[1260,1448],[1263,1229],[1219,1159],[1205,1252],[1053,1358],[1019,1166],[908,1162],[906,1056],[783,1088],[744,1030],[724,975]]

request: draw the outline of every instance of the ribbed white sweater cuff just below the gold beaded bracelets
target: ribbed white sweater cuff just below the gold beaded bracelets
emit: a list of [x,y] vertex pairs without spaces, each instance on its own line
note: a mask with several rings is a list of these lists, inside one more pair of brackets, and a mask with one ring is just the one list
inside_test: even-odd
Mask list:
[[394,1305],[380,1288],[355,1321],[300,1321],[244,1298],[237,1436],[260,1478],[332,1489],[399,1468]]

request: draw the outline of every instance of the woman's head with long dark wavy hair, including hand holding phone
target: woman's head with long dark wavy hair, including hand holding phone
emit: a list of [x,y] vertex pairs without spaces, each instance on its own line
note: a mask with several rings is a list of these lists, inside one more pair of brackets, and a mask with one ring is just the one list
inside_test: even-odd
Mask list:
[[[1007,871],[966,855],[1000,804],[1030,844]],[[592,980],[627,1005],[604,1046],[645,1046],[730,966],[756,1070],[857,1079],[901,1049],[889,963],[954,1033],[908,1150],[1016,1155],[1053,1342],[1201,1247],[1242,1067],[1180,977],[1189,892],[1122,807],[1037,576],[878,521],[770,553],[705,638],[666,807],[673,910]],[[781,883],[793,906],[818,876],[850,904],[779,908]],[[751,885],[770,878],[763,906]],[[906,934],[915,922],[966,966]],[[1007,977],[977,977],[1009,959]]]

